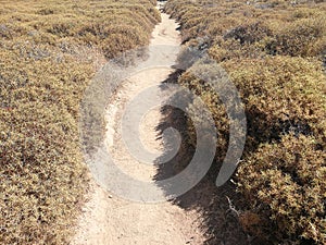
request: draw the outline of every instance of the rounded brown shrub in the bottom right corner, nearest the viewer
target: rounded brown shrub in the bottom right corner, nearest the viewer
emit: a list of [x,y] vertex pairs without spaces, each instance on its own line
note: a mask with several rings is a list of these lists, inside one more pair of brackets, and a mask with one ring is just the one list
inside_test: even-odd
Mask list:
[[318,139],[288,134],[261,145],[240,164],[239,188],[254,213],[269,218],[260,223],[267,231],[264,235],[326,243],[325,162]]

